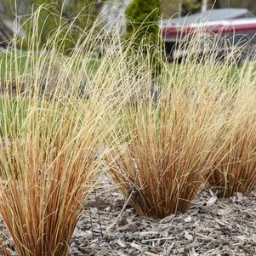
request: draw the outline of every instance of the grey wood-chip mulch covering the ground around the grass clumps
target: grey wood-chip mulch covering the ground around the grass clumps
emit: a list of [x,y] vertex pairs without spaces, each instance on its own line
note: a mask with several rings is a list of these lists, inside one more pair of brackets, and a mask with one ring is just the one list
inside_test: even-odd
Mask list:
[[110,179],[102,183],[77,224],[71,256],[256,255],[256,191],[220,200],[205,189],[187,213],[156,220],[124,207]]

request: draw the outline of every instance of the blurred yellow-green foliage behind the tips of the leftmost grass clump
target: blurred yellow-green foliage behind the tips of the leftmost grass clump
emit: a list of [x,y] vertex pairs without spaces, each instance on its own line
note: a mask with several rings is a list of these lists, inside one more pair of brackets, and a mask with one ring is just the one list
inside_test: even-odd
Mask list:
[[[82,39],[82,31],[89,31],[94,26],[103,4],[104,0],[32,0],[28,4],[32,13],[40,9],[37,23],[40,35],[37,43],[43,46],[48,41],[48,37],[54,36],[55,32],[60,29],[61,22],[65,25],[62,27],[63,32],[59,32],[61,48],[64,53],[69,53],[77,44],[78,38]],[[26,37],[31,37],[34,23],[32,19],[26,21]],[[26,47],[25,43],[24,48]]]

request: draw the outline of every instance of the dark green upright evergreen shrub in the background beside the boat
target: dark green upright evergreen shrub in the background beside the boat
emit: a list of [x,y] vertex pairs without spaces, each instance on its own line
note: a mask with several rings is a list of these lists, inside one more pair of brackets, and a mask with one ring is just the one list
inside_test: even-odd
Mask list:
[[154,78],[161,71],[159,59],[162,55],[161,33],[158,25],[159,0],[134,0],[128,4],[126,9],[126,30],[125,39],[132,42],[131,51],[139,53],[150,51],[151,68]]

